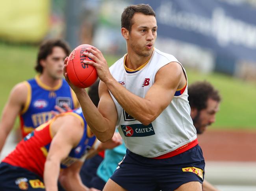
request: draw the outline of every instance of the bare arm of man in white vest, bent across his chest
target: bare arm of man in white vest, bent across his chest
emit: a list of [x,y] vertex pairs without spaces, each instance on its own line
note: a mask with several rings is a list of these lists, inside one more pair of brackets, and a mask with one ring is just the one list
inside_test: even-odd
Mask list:
[[88,51],[94,55],[88,53],[85,55],[95,62],[85,61],[85,64],[91,64],[97,69],[99,78],[105,82],[122,108],[144,125],[155,120],[170,104],[176,89],[186,84],[181,65],[171,62],[158,71],[154,85],[149,89],[145,98],[141,98],[126,90],[111,76],[106,60],[98,49],[93,47]]

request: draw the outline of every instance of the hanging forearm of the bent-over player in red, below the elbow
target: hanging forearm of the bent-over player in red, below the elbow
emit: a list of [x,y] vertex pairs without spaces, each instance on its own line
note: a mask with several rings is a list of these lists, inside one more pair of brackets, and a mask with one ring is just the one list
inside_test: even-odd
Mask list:
[[46,160],[44,171],[44,183],[46,191],[58,191],[58,177],[60,163],[54,160]]

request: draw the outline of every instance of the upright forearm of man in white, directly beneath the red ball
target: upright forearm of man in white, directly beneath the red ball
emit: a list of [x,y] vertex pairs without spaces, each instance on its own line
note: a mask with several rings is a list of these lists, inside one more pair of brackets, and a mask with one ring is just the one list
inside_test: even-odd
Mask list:
[[77,94],[77,98],[82,107],[83,116],[98,140],[106,142],[111,139],[115,125],[111,125],[109,120],[101,115],[85,91]]

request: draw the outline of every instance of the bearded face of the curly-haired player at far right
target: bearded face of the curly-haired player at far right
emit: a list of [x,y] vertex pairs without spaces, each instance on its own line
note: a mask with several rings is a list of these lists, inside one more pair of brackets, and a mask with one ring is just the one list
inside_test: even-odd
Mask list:
[[206,109],[199,111],[198,115],[193,118],[194,126],[197,129],[197,134],[201,134],[215,122],[215,115],[219,111],[219,102],[208,99]]

